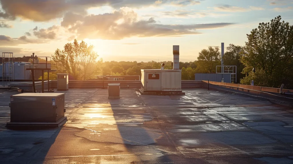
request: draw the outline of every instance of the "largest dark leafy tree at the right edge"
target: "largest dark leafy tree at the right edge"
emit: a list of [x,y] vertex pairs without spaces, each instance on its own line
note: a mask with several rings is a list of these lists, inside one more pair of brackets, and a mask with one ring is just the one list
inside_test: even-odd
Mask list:
[[[283,83],[293,88],[293,26],[278,16],[268,23],[260,23],[247,38],[241,62],[246,66],[243,73],[249,75],[241,83],[254,80],[260,86],[280,87]],[[253,67],[256,73],[251,71]]]

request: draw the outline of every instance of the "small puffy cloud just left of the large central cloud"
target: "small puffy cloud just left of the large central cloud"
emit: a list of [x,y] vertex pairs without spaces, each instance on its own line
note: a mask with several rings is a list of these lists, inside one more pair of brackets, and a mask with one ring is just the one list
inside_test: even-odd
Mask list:
[[37,27],[33,29],[33,34],[38,37],[39,39],[56,39],[57,34],[56,31],[59,29],[59,26],[53,25],[47,29],[42,28],[40,30]]

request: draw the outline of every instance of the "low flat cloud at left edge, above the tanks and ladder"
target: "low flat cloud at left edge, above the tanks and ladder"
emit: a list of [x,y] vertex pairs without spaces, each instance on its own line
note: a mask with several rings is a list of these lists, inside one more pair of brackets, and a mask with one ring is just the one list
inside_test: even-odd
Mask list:
[[28,43],[46,43],[44,39],[30,39],[26,36],[21,36],[19,38],[11,38],[6,35],[0,35],[0,45],[1,46],[15,46],[18,44],[28,44]]

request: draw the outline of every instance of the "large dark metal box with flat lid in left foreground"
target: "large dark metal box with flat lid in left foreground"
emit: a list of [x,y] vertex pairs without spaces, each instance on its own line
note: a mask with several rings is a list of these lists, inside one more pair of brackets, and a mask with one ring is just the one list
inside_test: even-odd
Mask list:
[[10,97],[10,122],[57,122],[64,118],[65,93],[23,93]]

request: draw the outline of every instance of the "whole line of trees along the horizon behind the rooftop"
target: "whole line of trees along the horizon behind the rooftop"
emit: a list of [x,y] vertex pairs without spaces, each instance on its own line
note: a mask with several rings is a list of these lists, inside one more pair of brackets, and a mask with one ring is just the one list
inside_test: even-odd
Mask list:
[[[224,65],[237,66],[237,82],[264,87],[293,88],[293,26],[281,21],[281,16],[259,26],[247,34],[245,46],[229,44],[224,53]],[[89,80],[97,75],[141,75],[141,69],[171,69],[171,61],[103,61],[93,45],[84,41],[67,43],[64,50],[57,49],[52,57],[52,79],[56,73],[69,73],[71,79]],[[195,73],[216,73],[221,65],[219,47],[209,46],[199,52],[196,61],[180,62],[182,80],[194,80]],[[255,72],[253,71],[253,68]],[[51,74],[51,73],[50,73]],[[46,77],[46,76],[45,76]]]

